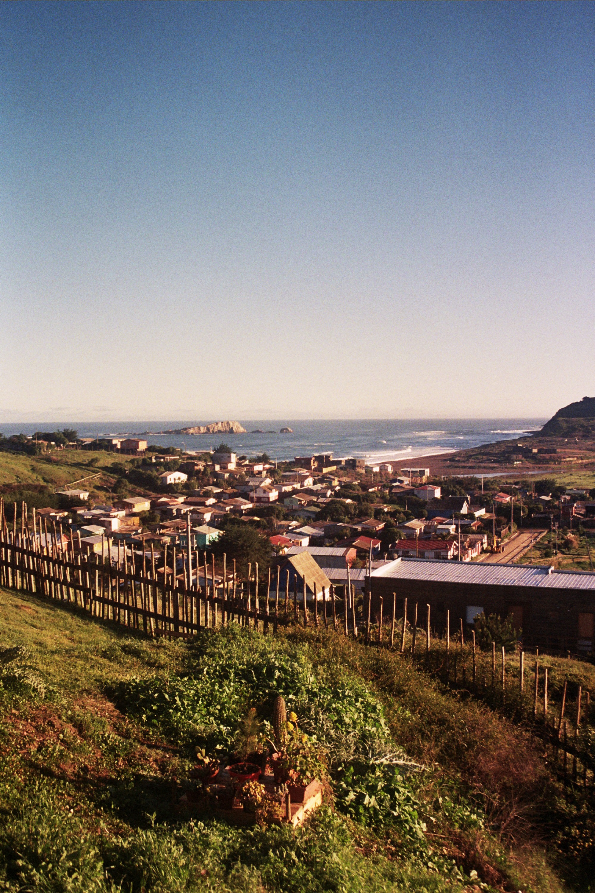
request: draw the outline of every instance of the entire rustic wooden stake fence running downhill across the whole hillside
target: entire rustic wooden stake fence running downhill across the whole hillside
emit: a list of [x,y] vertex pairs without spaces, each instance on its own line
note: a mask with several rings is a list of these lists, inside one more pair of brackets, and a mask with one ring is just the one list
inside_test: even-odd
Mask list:
[[[187,544],[191,542],[189,526],[188,521]],[[24,504],[20,517],[15,505],[14,516],[7,522],[0,500],[0,585],[5,588],[76,605],[94,617],[152,637],[187,638],[197,630],[230,622],[257,630],[262,624],[263,630],[273,632],[279,625],[300,623],[351,633],[366,644],[396,647],[413,662],[423,663],[427,672],[450,688],[464,689],[516,719],[528,721],[533,733],[550,748],[550,762],[565,783],[582,781],[585,788],[595,785],[590,693],[578,689],[575,719],[569,722],[566,682],[556,716],[549,703],[548,668],[540,668],[537,658],[534,679],[525,684],[525,653],[519,652],[515,684],[508,680],[503,648],[497,653],[492,647],[491,655],[479,651],[475,632],[466,636],[462,620],[454,636],[450,636],[447,619],[444,638],[434,638],[430,605],[411,605],[408,614],[405,599],[397,618],[396,593],[385,612],[381,597],[379,612],[371,618],[368,594],[364,594],[359,613],[352,588],[339,598],[331,586],[328,593],[321,593],[322,600],[315,591],[309,607],[305,583],[298,597],[295,584],[293,592],[289,591],[287,574],[285,591],[279,591],[278,568],[273,574],[269,570],[261,581],[258,564],[253,569],[249,565],[243,580],[235,562],[227,568],[224,555],[218,578],[214,556],[209,561],[206,552],[201,554],[192,547],[164,547],[160,568],[153,545],[150,550],[140,547],[138,551],[140,555],[135,548],[128,551],[120,540],[114,544],[113,538],[105,536],[101,554],[84,555],[79,535],[74,536],[71,530],[65,535],[62,525],[55,522],[48,529],[45,518],[36,515],[35,509],[29,515]]]

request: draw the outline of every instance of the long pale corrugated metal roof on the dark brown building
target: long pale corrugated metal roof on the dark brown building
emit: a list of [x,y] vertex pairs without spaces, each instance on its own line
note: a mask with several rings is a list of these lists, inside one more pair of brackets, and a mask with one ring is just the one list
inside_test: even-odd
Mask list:
[[393,580],[433,580],[484,586],[529,586],[549,589],[595,590],[595,572],[554,571],[526,564],[483,564],[426,558],[397,558],[372,571],[373,577]]

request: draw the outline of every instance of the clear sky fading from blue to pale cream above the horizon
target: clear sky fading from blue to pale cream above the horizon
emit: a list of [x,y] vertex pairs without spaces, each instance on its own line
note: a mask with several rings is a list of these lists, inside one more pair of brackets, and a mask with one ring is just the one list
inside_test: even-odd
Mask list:
[[595,394],[595,5],[0,4],[0,421]]

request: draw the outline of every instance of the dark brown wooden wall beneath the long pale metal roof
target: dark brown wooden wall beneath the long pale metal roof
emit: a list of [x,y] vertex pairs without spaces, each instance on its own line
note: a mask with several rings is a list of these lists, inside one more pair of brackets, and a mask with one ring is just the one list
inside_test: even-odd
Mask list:
[[[377,615],[380,596],[392,605],[393,593],[397,611],[403,599],[408,599],[408,618],[413,618],[417,602],[418,625],[423,626],[426,604],[430,605],[433,631],[442,635],[446,628],[446,612],[450,611],[450,630],[459,629],[459,619],[467,623],[467,607],[482,607],[484,613],[513,613],[516,625],[522,627],[525,647],[541,647],[549,651],[566,650],[576,653],[593,652],[593,638],[579,636],[588,630],[595,615],[595,591],[588,589],[554,589],[516,586],[485,586],[481,584],[442,583],[430,580],[399,580],[372,577],[372,612]],[[581,617],[579,618],[579,615]],[[589,618],[591,617],[591,621]],[[469,621],[471,622],[471,621]],[[587,644],[588,643],[588,644]]]

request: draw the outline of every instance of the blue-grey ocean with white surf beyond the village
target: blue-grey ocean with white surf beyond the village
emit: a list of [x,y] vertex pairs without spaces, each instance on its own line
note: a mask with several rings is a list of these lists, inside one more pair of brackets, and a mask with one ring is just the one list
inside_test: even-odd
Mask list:
[[[208,424],[202,421],[117,421],[72,422],[79,437],[102,435],[133,435],[142,431],[187,428]],[[367,463],[407,462],[419,455],[440,455],[454,450],[478,447],[481,444],[508,440],[539,430],[546,419],[398,419],[304,421],[243,421],[248,432],[260,429],[265,433],[147,435],[149,444],[160,447],[182,447],[202,452],[225,441],[238,455],[268,453],[272,459],[293,459],[296,455],[333,453],[335,458],[363,457]],[[5,437],[11,434],[33,434],[36,430],[52,431],[66,427],[65,422],[32,424],[2,424]],[[281,428],[293,429],[292,434],[280,434]]]

